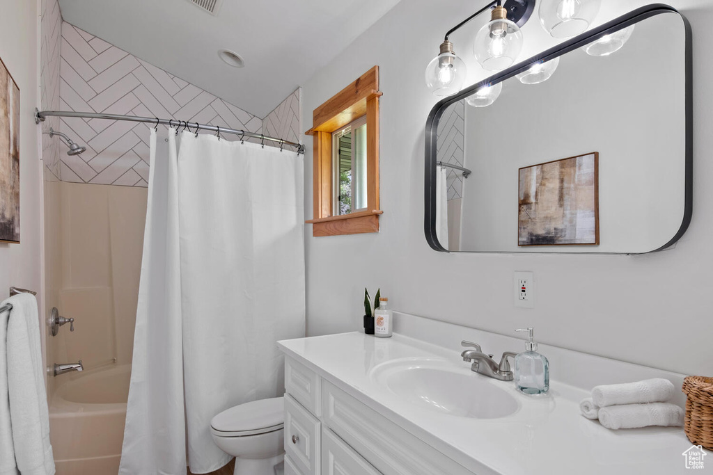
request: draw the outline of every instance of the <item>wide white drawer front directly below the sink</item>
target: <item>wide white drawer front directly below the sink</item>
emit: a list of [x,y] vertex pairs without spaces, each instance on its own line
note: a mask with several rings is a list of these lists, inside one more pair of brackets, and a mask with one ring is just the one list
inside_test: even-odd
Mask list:
[[322,421],[384,475],[473,475],[328,381],[322,382]]

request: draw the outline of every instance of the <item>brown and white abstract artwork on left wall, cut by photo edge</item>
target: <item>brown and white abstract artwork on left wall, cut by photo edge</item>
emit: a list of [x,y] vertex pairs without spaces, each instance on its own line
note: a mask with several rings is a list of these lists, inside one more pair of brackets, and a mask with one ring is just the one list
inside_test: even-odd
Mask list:
[[20,242],[20,89],[1,59],[0,241]]

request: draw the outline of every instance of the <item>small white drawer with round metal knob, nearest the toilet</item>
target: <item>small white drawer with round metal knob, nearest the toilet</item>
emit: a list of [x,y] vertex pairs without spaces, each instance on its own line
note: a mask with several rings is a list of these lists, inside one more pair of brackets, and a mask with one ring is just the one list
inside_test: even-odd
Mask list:
[[284,395],[284,451],[304,475],[319,475],[320,426],[299,402]]

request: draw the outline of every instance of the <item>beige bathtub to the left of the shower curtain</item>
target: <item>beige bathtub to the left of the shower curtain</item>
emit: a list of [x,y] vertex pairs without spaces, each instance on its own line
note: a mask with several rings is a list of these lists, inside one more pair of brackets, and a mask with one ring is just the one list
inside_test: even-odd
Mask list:
[[49,406],[56,475],[116,475],[131,365],[100,368],[61,382]]

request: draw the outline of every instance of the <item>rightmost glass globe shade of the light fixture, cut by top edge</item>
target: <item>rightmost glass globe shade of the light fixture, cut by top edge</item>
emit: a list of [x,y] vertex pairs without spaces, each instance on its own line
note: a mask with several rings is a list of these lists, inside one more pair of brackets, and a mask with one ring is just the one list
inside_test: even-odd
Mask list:
[[582,33],[599,12],[601,0],[542,0],[540,24],[554,38]]

